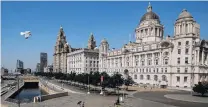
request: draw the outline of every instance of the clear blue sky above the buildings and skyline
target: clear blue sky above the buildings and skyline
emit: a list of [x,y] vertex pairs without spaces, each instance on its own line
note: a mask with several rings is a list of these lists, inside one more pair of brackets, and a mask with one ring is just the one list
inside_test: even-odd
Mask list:
[[[173,25],[186,8],[200,24],[201,38],[208,39],[208,2],[151,2],[165,26],[165,36],[173,35]],[[92,32],[99,46],[107,38],[111,48],[120,48],[133,34],[148,2],[2,2],[2,65],[14,69],[16,60],[35,69],[40,52],[53,62],[54,45],[60,25],[72,47],[87,45]],[[33,36],[24,39],[21,31]],[[132,38],[132,41],[135,39]]]

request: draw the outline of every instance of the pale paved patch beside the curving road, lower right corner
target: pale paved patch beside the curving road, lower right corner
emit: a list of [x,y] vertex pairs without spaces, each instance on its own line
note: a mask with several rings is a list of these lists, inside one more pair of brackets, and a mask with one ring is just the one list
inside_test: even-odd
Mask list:
[[167,94],[164,97],[188,102],[208,103],[208,97],[192,96],[190,94]]

